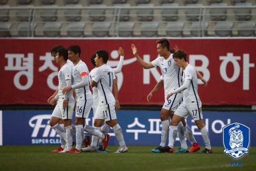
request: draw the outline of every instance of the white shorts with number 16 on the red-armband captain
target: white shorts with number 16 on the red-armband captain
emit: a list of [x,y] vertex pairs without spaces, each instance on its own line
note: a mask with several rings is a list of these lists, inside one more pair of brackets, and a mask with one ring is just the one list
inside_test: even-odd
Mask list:
[[93,99],[85,100],[84,97],[78,98],[76,102],[75,117],[88,118],[91,111],[92,104],[93,104]]

